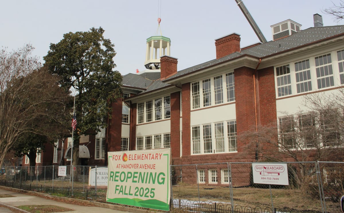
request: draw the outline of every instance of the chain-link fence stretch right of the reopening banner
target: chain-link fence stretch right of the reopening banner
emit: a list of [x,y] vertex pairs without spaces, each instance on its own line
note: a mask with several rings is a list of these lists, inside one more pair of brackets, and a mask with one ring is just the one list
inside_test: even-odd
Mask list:
[[284,164],[288,185],[254,183],[252,162],[171,166],[173,208],[179,212],[340,212],[344,162]]

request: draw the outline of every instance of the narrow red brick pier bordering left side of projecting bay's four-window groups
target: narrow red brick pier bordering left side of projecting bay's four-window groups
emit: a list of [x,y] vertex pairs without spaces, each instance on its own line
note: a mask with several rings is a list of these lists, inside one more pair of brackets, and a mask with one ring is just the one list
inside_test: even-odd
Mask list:
[[190,83],[184,83],[182,85],[182,143],[183,153],[182,156],[190,155],[191,142],[190,142]]

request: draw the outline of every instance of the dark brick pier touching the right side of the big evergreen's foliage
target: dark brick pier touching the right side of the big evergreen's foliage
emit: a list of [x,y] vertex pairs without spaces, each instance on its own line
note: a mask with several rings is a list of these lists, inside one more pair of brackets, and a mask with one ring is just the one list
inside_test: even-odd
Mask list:
[[112,119],[109,119],[109,127],[106,129],[105,137],[107,141],[107,152],[117,152],[121,149],[122,99],[118,98],[117,102],[111,104],[111,107]]

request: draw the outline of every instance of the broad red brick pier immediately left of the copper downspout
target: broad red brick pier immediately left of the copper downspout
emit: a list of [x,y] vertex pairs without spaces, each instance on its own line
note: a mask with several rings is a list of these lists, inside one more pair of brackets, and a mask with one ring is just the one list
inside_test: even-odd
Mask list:
[[[234,70],[238,137],[240,137],[240,135],[245,131],[252,130],[256,125],[253,72],[254,69],[248,67],[240,67]],[[244,152],[246,146],[246,141],[238,140],[238,152]]]

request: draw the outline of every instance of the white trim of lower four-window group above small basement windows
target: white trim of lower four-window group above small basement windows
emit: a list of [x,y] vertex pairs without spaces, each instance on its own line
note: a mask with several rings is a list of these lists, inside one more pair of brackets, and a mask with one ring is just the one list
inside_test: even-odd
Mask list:
[[[228,121],[219,121],[219,122],[213,122],[213,123],[206,123],[206,124],[201,124],[201,125],[195,125],[195,126],[191,126],[191,134],[190,134],[190,143],[191,143],[191,155],[209,155],[209,154],[219,154],[219,153],[237,153],[238,150],[235,150],[235,151],[231,151],[229,152],[228,149],[229,149],[229,140],[228,140],[228,130],[227,130],[227,122],[230,122],[230,121],[236,121],[236,120],[228,120]],[[223,134],[224,134],[224,142],[225,142],[225,151],[224,152],[216,152],[216,140],[215,140],[215,124],[216,123],[223,123]],[[212,150],[210,153],[205,153],[204,152],[204,141],[203,141],[203,126],[204,125],[208,125],[208,124],[211,124],[211,135],[212,135],[212,138],[211,138],[211,142],[212,142]],[[193,131],[192,131],[192,128],[193,127],[199,127],[200,129],[200,153],[193,153]],[[215,151],[214,151],[215,150]]]

